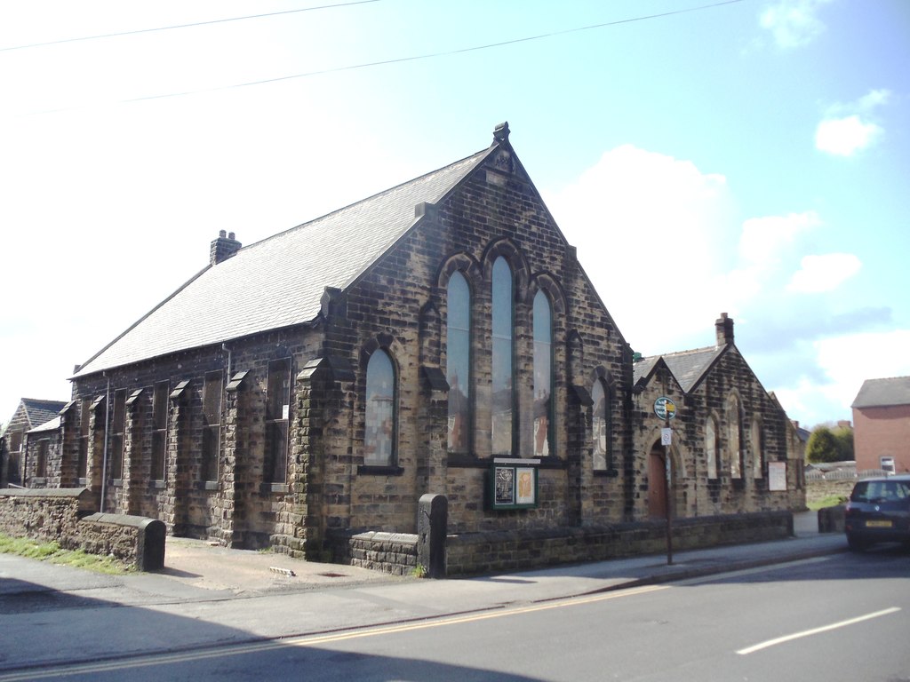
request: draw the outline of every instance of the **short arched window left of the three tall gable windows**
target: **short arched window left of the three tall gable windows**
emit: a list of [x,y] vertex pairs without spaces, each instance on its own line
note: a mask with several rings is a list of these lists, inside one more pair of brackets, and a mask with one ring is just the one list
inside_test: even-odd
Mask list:
[[367,363],[367,409],[363,433],[363,463],[392,466],[395,463],[396,420],[395,367],[381,348]]

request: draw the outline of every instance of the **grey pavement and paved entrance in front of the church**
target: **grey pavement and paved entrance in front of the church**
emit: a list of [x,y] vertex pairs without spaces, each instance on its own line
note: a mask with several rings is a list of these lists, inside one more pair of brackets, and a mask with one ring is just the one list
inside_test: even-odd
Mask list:
[[[5,672],[35,666],[281,642],[784,565],[846,549],[843,533],[819,533],[817,516],[806,512],[794,515],[794,537],[674,552],[672,564],[657,555],[447,580],[392,577],[176,537],[167,538],[163,570],[126,576],[0,555],[0,682]],[[37,632],[56,647],[37,646]]]

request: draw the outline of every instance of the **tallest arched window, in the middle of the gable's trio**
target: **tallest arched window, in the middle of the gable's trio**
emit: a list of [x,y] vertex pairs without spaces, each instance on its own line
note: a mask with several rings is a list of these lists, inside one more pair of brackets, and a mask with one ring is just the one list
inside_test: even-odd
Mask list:
[[502,256],[493,263],[492,279],[492,386],[490,431],[492,454],[511,456],[512,412],[512,273]]

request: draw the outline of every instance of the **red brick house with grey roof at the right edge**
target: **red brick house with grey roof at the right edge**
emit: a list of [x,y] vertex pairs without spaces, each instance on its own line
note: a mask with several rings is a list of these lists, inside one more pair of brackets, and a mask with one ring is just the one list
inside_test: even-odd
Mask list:
[[910,376],[866,379],[852,407],[856,470],[910,471]]

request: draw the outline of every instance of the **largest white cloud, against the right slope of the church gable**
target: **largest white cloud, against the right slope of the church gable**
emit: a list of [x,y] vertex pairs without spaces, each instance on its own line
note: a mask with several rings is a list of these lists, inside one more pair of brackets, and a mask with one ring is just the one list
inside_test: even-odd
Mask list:
[[622,145],[545,199],[636,350],[677,350],[686,335],[713,341],[736,237],[724,176]]

